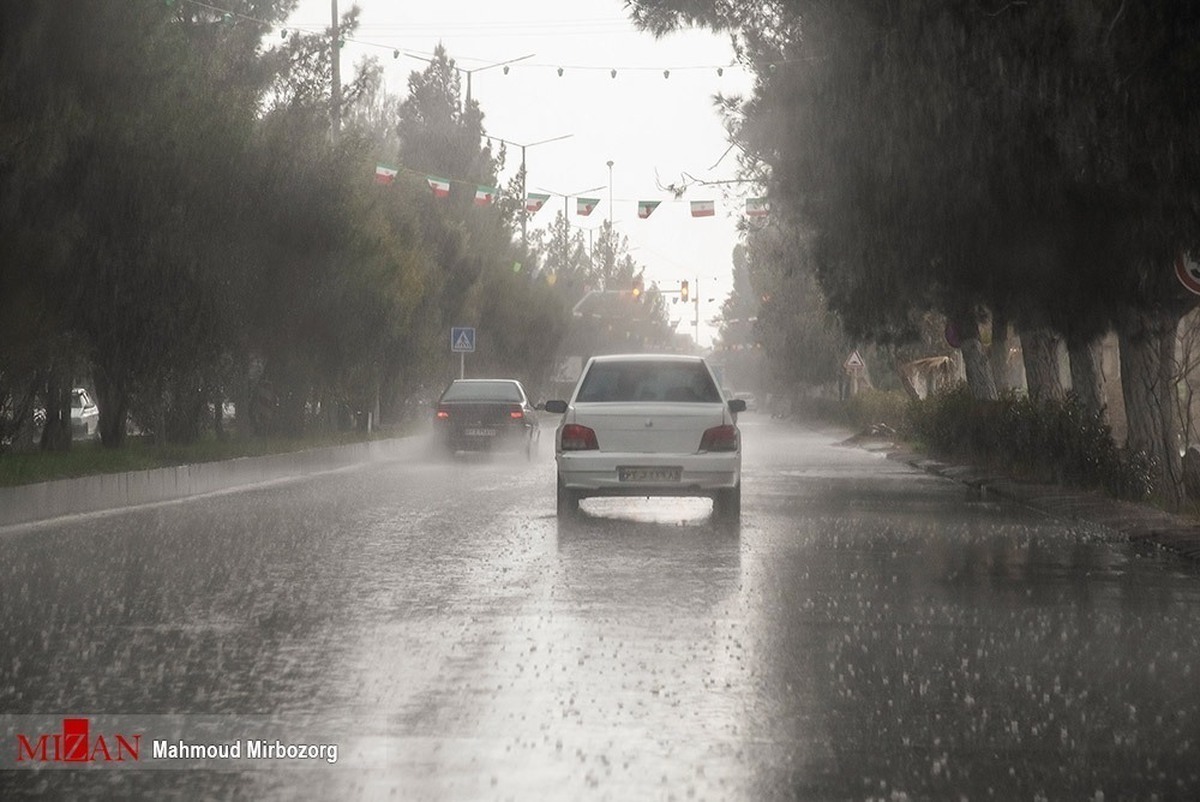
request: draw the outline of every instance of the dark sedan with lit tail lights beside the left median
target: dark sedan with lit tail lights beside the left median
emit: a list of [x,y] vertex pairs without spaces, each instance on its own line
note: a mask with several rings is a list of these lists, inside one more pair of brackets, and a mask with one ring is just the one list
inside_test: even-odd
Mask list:
[[438,399],[438,442],[455,451],[524,451],[538,448],[538,414],[521,382],[511,378],[461,378]]

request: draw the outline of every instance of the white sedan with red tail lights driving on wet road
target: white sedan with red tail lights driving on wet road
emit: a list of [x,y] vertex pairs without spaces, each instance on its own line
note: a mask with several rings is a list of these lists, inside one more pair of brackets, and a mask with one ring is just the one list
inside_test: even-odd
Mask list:
[[589,496],[704,496],[714,514],[742,513],[742,433],[700,357],[593,357],[570,402],[547,401],[554,436],[558,514]]

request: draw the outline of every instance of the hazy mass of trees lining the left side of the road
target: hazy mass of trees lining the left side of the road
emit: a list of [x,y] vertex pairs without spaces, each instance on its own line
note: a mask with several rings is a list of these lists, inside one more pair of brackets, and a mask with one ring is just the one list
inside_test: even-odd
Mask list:
[[[70,447],[79,382],[108,447],[221,433],[229,401],[254,435],[397,417],[456,372],[451,325],[479,329],[475,375],[541,382],[601,271],[523,249],[518,181],[474,204],[505,154],[452,59],[404,98],[360,64],[334,136],[331,37],[277,36],[295,0],[220,5],[0,6],[0,444],[43,408],[42,448]],[[618,240],[602,264],[632,275]]]

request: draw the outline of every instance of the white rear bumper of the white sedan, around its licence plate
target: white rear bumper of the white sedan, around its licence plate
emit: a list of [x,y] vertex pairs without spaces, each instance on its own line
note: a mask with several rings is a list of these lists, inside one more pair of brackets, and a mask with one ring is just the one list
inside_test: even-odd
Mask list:
[[[679,481],[623,481],[620,468],[682,468]],[[563,451],[558,477],[568,490],[588,496],[706,496],[736,487],[740,453],[638,454]]]

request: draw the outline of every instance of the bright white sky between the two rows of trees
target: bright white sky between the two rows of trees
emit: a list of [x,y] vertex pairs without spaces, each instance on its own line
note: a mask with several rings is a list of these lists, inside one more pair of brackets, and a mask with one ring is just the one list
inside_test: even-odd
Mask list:
[[[352,0],[337,2],[344,11]],[[323,30],[329,26],[330,5],[301,0],[289,24]],[[359,0],[358,5],[361,25],[342,50],[343,79],[359,60],[377,56],[389,91],[404,95],[408,74],[424,65],[406,55],[394,59],[392,50],[430,54],[442,42],[461,70],[473,71],[472,96],[482,108],[487,133],[526,145],[572,134],[526,149],[529,191],[554,196],[530,217],[530,229],[553,220],[564,194],[571,197],[571,226],[598,228],[608,216],[610,188],[594,187],[610,186],[611,160],[617,231],[629,238],[648,283],[678,289],[686,279],[695,295],[698,279],[700,339],[710,342],[715,328],[707,322],[719,313],[732,287],[737,221],[745,198],[762,194],[761,187],[749,184],[698,182],[736,178],[737,151],[728,150],[713,96],[746,95],[752,79],[733,66],[727,37],[692,30],[655,40],[632,26],[622,0]],[[508,74],[502,66],[490,66],[529,54],[534,55],[509,65]],[[510,148],[505,181],[520,162],[520,149]],[[660,188],[670,184],[690,186],[677,202]],[[584,190],[601,198],[588,217],[575,214],[575,197]],[[662,204],[640,220],[638,200]],[[715,216],[691,217],[690,200],[714,200]],[[694,309],[685,313],[682,305],[671,306],[673,318],[685,318],[679,331],[692,331]]]

